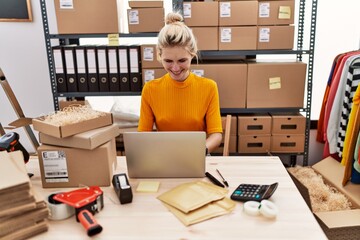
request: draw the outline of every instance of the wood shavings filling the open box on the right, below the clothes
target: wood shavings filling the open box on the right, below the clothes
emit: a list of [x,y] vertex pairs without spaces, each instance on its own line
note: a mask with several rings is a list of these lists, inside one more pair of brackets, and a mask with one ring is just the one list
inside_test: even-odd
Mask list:
[[351,202],[332,186],[324,183],[322,176],[311,167],[288,168],[308,190],[313,212],[350,210]]

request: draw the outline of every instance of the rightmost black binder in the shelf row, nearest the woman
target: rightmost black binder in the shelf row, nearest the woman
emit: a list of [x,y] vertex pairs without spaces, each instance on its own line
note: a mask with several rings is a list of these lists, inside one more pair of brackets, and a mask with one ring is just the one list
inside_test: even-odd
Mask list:
[[130,72],[130,91],[141,92],[141,57],[140,45],[129,45],[129,72]]

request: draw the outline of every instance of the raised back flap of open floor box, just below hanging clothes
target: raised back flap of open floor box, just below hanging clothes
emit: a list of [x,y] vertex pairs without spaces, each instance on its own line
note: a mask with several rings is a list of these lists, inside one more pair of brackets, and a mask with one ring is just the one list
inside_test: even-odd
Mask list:
[[360,184],[349,182],[345,186],[342,185],[344,166],[334,158],[327,157],[314,164],[312,168],[321,174],[326,182],[345,194],[354,207],[360,208]]

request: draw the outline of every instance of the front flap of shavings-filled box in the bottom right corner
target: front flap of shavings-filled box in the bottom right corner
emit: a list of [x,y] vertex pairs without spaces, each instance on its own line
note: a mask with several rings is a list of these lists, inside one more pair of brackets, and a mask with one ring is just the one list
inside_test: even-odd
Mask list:
[[314,213],[328,228],[360,226],[360,209]]

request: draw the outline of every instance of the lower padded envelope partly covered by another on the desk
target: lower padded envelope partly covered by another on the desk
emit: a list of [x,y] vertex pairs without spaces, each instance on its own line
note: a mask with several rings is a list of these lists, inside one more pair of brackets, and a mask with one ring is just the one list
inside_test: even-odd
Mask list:
[[184,213],[166,203],[164,205],[186,226],[225,215],[235,208],[235,202],[228,198],[211,202],[189,213]]

